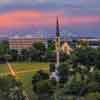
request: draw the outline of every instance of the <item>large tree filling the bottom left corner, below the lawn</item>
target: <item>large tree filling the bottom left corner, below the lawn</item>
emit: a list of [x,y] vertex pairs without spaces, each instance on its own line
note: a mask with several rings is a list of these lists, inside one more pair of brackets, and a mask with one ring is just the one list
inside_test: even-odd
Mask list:
[[0,100],[25,100],[22,84],[13,76],[0,77]]

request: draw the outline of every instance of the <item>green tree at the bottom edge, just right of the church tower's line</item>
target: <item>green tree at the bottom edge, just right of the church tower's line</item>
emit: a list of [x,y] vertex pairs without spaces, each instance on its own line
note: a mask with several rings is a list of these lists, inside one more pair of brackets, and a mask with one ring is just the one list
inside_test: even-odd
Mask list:
[[54,100],[76,100],[80,89],[82,87],[81,82],[75,80],[68,81],[64,84],[63,88],[58,88],[54,94]]

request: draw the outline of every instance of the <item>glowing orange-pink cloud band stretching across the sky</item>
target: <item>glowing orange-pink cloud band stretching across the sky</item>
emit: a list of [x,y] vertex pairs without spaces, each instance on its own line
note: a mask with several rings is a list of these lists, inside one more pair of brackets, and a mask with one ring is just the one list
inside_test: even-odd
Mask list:
[[100,16],[64,16],[63,12],[12,11],[0,14],[0,28],[23,28],[29,25],[54,27],[56,15],[60,16],[62,25],[100,22]]

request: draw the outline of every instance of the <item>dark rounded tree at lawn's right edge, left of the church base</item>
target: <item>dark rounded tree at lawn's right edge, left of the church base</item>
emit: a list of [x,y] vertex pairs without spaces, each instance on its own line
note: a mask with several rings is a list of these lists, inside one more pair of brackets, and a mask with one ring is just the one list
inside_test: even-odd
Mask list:
[[44,71],[38,71],[32,77],[33,92],[35,92],[39,100],[52,100],[54,87],[56,82],[54,80],[48,80],[49,75]]

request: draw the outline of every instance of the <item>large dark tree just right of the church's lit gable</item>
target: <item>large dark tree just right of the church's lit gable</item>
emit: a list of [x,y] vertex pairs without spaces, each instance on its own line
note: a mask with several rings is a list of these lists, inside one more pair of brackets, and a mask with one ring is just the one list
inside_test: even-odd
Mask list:
[[97,53],[94,48],[78,48],[75,49],[70,56],[74,64],[82,64],[86,66],[94,66],[96,64]]

